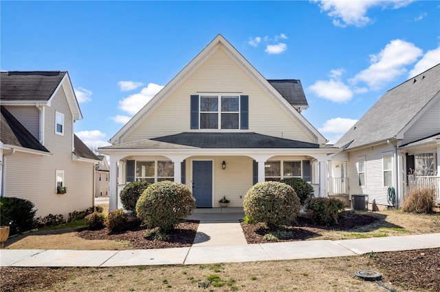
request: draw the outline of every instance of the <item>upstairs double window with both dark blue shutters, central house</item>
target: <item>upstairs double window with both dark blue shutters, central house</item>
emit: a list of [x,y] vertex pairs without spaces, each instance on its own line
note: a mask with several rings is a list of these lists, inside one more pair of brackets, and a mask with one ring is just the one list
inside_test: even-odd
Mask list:
[[247,130],[248,95],[191,95],[191,129]]

